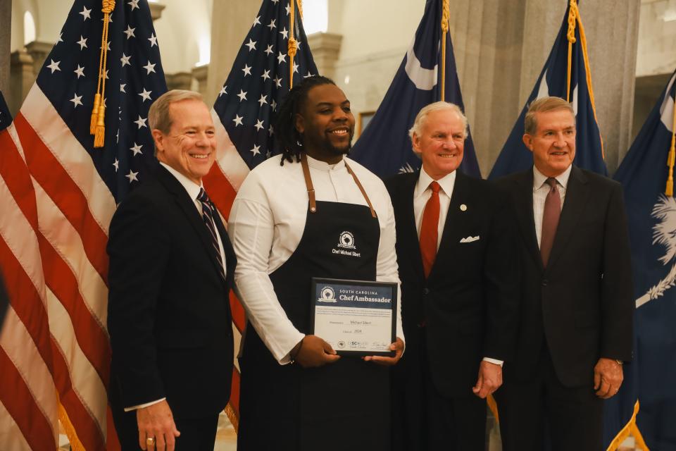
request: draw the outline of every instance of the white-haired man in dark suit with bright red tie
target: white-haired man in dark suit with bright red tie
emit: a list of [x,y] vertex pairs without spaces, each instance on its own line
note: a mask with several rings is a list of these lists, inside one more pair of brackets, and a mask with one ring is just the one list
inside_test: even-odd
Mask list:
[[458,106],[425,106],[410,135],[423,168],[386,183],[408,339],[393,369],[393,443],[483,451],[485,398],[502,383],[517,327],[512,222],[494,186],[456,171],[467,136]]

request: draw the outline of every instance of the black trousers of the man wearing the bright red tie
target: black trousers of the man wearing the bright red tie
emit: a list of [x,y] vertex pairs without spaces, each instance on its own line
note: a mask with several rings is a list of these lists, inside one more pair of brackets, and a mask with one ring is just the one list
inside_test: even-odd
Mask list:
[[392,378],[392,449],[484,451],[486,400],[475,396],[471,387],[464,397],[440,394],[427,362],[425,331],[415,332],[413,342],[420,345],[406,349],[405,371],[394,370]]

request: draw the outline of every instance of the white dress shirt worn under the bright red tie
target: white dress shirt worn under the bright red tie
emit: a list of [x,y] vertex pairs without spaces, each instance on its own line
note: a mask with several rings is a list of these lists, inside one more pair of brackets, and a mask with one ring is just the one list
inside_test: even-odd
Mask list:
[[[427,201],[432,197],[432,188],[430,183],[434,179],[427,175],[425,168],[420,168],[420,176],[418,176],[418,183],[415,184],[413,190],[413,215],[415,216],[415,230],[418,231],[418,239],[420,239],[420,226],[423,225],[423,211]],[[456,171],[444,175],[444,177],[437,180],[441,189],[439,190],[439,226],[437,228],[437,250],[439,243],[442,242],[442,235],[444,233],[444,225],[446,224],[446,216],[449,214],[449,206],[451,205],[451,196],[453,196],[453,187],[456,185]],[[491,359],[484,357],[484,361],[492,364],[502,366],[503,361],[498,359]]]

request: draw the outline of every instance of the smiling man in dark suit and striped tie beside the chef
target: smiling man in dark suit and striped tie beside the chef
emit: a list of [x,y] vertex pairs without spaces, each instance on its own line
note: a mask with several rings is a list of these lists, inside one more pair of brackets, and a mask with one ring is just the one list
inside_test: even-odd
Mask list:
[[196,92],[149,111],[156,180],[113,216],[108,255],[111,407],[124,450],[213,450],[230,397],[228,292],[236,259],[201,185],[215,129]]

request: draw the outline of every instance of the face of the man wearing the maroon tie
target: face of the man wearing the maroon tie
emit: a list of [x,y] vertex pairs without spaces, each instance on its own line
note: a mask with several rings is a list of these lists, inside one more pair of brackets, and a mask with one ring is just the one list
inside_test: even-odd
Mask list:
[[568,109],[536,113],[537,130],[526,133],[523,142],[533,153],[533,163],[542,175],[556,177],[575,159],[575,117]]

